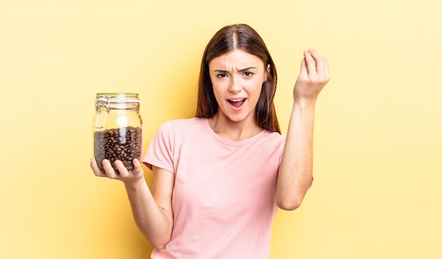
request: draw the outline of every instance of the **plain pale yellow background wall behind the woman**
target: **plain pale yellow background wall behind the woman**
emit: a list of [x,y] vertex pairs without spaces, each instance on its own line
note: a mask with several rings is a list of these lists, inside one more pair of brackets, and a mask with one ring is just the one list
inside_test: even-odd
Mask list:
[[[442,4],[0,0],[0,258],[148,258],[122,183],[93,176],[96,92],[138,92],[145,146],[193,114],[216,30],[256,28],[285,132],[302,51],[327,57],[315,182],[271,258],[442,258]],[[145,170],[146,179],[151,173]]]

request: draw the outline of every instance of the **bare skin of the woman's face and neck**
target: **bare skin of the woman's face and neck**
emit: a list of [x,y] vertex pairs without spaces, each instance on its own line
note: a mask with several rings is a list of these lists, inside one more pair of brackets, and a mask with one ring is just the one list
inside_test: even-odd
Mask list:
[[[255,119],[255,107],[261,85],[267,79],[263,61],[234,50],[210,61],[209,71],[218,103],[217,114],[209,119],[213,131],[233,141],[245,140],[262,131]],[[243,103],[241,107],[234,107],[232,101]]]

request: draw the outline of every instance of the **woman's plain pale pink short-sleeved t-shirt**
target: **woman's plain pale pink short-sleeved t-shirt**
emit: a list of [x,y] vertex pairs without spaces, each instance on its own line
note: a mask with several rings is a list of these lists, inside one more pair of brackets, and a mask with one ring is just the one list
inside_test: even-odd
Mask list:
[[284,143],[267,130],[229,141],[201,118],[162,124],[143,162],[175,174],[174,229],[151,258],[268,258]]

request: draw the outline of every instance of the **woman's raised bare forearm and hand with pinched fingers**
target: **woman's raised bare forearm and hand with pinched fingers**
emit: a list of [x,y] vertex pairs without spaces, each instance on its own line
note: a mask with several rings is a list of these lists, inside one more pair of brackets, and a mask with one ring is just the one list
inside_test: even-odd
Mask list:
[[277,178],[276,204],[283,210],[299,207],[311,186],[315,104],[329,80],[327,60],[314,49],[304,51]]

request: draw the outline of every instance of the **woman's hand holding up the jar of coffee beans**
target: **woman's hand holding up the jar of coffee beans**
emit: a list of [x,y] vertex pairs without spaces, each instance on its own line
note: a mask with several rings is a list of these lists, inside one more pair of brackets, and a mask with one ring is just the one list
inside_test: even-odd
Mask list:
[[135,184],[140,180],[144,181],[144,171],[141,168],[141,163],[138,161],[138,159],[133,159],[133,170],[126,169],[123,162],[119,160],[115,161],[114,163],[118,169],[118,172],[114,170],[109,160],[104,159],[102,164],[104,171],[98,167],[95,158],[90,159],[90,168],[92,168],[92,171],[96,176],[120,180],[126,184]]

